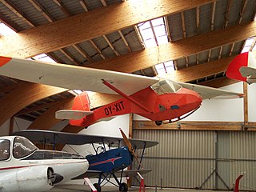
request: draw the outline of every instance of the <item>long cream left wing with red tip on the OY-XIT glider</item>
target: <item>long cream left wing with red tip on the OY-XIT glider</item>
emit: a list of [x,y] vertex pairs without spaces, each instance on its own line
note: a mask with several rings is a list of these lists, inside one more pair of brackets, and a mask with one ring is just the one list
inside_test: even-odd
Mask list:
[[134,94],[138,90],[145,89],[159,81],[158,78],[110,70],[97,70],[82,66],[1,56],[0,75],[17,78],[26,82],[58,86],[69,90],[92,90],[100,93],[116,94],[102,83],[102,80],[104,80],[128,95]]

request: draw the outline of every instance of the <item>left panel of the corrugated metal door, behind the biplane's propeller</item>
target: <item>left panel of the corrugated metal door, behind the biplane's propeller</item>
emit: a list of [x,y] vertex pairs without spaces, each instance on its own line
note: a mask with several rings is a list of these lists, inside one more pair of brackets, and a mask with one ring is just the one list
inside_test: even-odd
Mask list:
[[153,169],[144,176],[147,186],[213,188],[214,131],[134,130],[133,135],[159,142],[146,151],[142,162],[145,168]]

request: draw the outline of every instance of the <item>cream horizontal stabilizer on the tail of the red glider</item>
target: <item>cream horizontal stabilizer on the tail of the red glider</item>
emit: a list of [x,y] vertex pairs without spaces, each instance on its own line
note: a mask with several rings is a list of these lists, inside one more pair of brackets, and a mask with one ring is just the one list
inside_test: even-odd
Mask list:
[[86,110],[58,110],[55,113],[55,118],[58,119],[74,119],[84,118],[86,115],[93,114],[93,111]]

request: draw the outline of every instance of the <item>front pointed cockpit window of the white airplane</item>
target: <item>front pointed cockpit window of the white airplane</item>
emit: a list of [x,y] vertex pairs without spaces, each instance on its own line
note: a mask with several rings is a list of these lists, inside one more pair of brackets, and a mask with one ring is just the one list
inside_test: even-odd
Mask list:
[[16,137],[14,138],[14,158],[24,158],[29,154],[32,154],[34,150],[38,148],[34,146],[27,138]]

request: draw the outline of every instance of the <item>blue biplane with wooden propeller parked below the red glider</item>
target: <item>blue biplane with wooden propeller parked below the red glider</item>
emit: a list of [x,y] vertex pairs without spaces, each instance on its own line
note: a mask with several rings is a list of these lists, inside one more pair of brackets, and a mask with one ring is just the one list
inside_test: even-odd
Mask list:
[[[120,131],[122,133],[122,138],[88,134],[70,134],[46,130],[22,130],[15,132],[14,134],[30,138],[32,142],[47,142],[54,146],[58,144],[91,144],[94,148],[95,154],[89,154],[86,156],[86,159],[89,162],[89,169],[73,179],[98,178],[98,182],[94,183],[94,187],[98,192],[100,192],[102,190],[102,186],[107,182],[118,186],[119,191],[127,191],[128,186],[126,182],[122,182],[123,177],[136,176],[137,172],[140,174],[146,174],[151,171],[149,169],[140,169],[142,168],[141,162],[143,155],[145,154],[145,149],[158,145],[158,142],[128,139],[121,129]],[[102,145],[96,147],[94,145],[95,143],[100,143]],[[116,146],[114,146],[114,144]],[[135,150],[138,149],[142,149],[140,159],[138,159],[137,154],[135,154]],[[124,170],[126,167],[131,166],[134,158],[138,161],[138,169]],[[114,178],[117,184],[111,182],[110,178]],[[120,180],[118,180],[118,178],[120,178]]]

